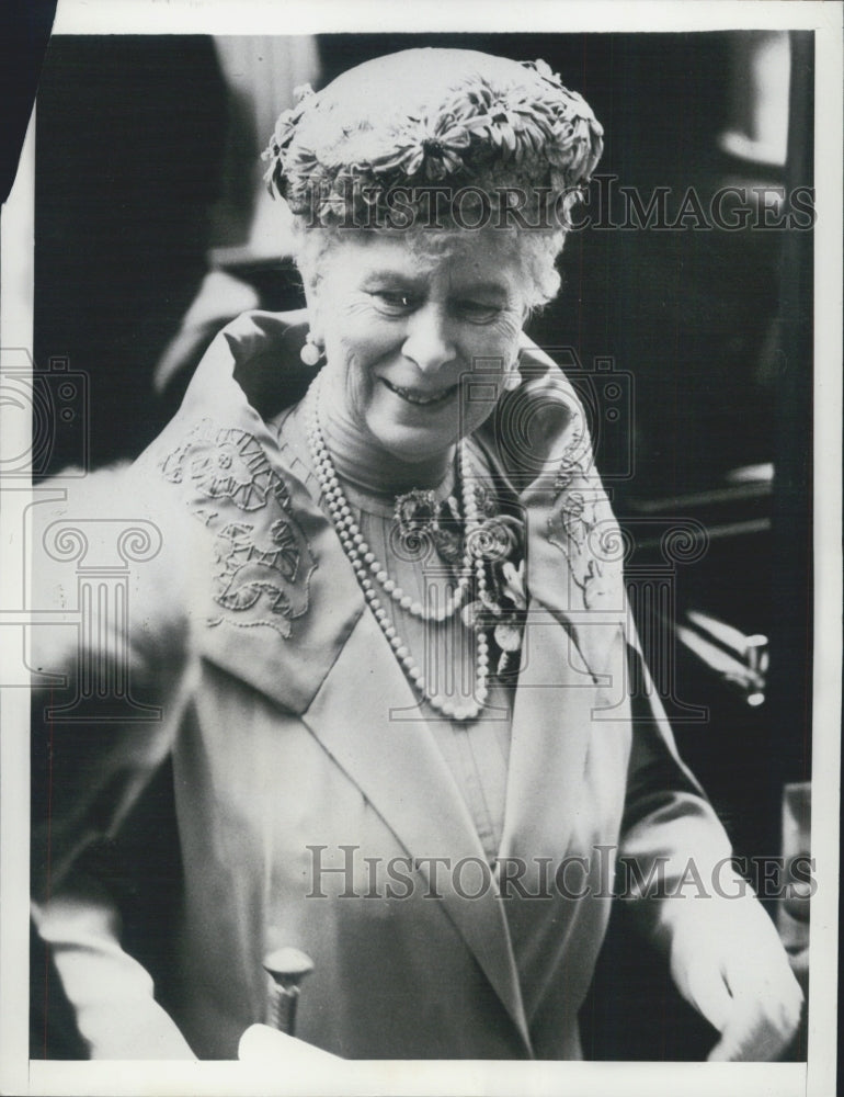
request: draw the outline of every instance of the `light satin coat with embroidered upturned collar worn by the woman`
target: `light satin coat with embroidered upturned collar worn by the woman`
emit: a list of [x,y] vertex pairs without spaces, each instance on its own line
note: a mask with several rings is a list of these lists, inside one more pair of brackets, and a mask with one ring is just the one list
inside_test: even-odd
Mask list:
[[[648,722],[630,719],[627,659],[639,656],[582,411],[525,343],[522,389],[475,442],[520,495],[528,530],[500,852],[505,872],[524,872],[499,897],[330,521],[244,398],[241,385],[295,360],[300,319],[239,318],[133,468],[89,477],[61,512],[42,505],[42,528],[88,514],[101,527],[146,517],[160,531],[158,554],[132,569],[128,631],[130,691],[163,719],[45,725],[54,761],[49,825],[34,838],[36,921],[92,1054],[178,1053],[150,981],[116,943],[107,875],[92,884],[89,869],[83,883],[81,870],[103,835],[119,841],[170,756],[182,861],[170,1009],[196,1054],[236,1054],[264,1016],[265,951],[293,945],[316,965],[297,1034],[337,1054],[579,1058],[616,855],[647,873],[658,857],[678,872],[688,857],[705,866],[730,852],[658,702]],[[521,452],[502,444],[526,423]],[[78,561],[45,553],[41,567],[39,589],[72,601]],[[73,631],[35,632],[37,666],[66,667]],[[585,860],[560,887],[566,858]]]

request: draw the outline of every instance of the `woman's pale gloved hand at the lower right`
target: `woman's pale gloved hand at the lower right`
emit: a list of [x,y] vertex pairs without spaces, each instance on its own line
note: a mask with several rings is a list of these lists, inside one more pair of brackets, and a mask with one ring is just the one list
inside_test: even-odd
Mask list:
[[671,973],[720,1032],[710,1061],[778,1059],[800,1022],[803,995],[771,918],[751,897],[674,898]]

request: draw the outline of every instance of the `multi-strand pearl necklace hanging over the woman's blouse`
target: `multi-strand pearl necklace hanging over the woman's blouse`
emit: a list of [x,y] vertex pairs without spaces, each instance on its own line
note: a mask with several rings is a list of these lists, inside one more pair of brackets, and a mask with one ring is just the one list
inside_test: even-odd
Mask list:
[[480,525],[478,505],[475,499],[475,493],[467,487],[468,477],[466,472],[468,461],[466,456],[466,443],[461,439],[457,448],[457,473],[460,479],[463,513],[466,521],[464,555],[457,590],[454,595],[449,595],[446,598],[444,607],[427,611],[419,601],[414,601],[409,595],[404,593],[401,587],[389,577],[386,567],[375,558],[375,554],[369,550],[369,545],[361,533],[360,525],[352,517],[352,509],[340,485],[340,479],[334,463],[331,460],[331,454],[326,445],[320,426],[321,382],[322,374],[320,373],[315,378],[308,394],[306,416],[308,446],[313,460],[322,498],[326,500],[331,521],[340,538],[343,551],[354,569],[364,598],[392,648],[399,666],[420,697],[449,720],[475,720],[482,709],[488,694],[489,643],[486,632],[482,629],[476,629],[475,698],[471,701],[463,703],[442,699],[431,693],[424,676],[411,656],[407,644],[398,635],[395,626],[390,624],[387,611],[384,609],[381,600],[373,585],[373,579],[375,579],[385,593],[389,595],[401,609],[413,617],[434,622],[445,621],[456,612],[471,585],[472,572],[475,573],[478,597],[486,590],[487,576],[483,570],[483,554],[480,551],[478,538],[476,536]]

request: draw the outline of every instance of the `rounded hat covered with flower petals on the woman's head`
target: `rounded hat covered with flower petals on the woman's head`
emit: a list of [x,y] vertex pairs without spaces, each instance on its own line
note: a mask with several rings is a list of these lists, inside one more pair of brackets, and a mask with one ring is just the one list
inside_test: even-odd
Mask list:
[[[466,227],[479,208],[505,208],[544,228],[580,197],[602,150],[591,108],[545,61],[426,48],[296,89],[263,159],[271,193],[315,225],[409,227],[423,205],[431,218],[436,195]],[[556,224],[528,220],[549,211]]]

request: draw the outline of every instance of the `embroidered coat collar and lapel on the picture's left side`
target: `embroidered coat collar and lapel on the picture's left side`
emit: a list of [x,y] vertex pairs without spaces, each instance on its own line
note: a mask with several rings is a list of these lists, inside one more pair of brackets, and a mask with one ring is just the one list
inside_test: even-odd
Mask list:
[[278,317],[239,317],[215,339],[179,415],[140,462],[170,485],[168,532],[195,565],[186,592],[195,649],[301,712],[364,602],[305,486],[307,470],[283,460],[236,380],[254,359],[251,381],[269,391],[261,378],[273,366],[284,374],[289,339]]

